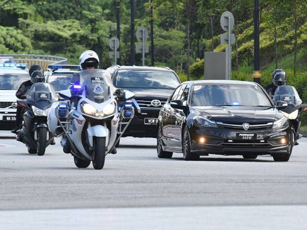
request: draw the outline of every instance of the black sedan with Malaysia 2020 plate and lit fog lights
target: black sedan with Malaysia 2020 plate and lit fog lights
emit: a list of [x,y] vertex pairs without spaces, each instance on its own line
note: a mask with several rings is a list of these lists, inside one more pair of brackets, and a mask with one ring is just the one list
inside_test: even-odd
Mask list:
[[183,153],[185,160],[200,155],[243,155],[255,159],[272,155],[289,160],[293,130],[278,110],[287,104],[273,103],[254,82],[184,82],[162,107],[157,126],[160,158]]

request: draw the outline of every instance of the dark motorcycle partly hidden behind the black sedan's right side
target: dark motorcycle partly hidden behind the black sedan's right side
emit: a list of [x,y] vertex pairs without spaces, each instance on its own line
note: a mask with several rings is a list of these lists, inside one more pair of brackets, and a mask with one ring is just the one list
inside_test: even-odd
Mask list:
[[287,102],[287,107],[280,109],[283,115],[289,119],[294,131],[294,143],[302,137],[299,134],[301,125],[300,115],[307,111],[307,104],[302,104],[296,89],[291,85],[279,86],[275,90],[273,100]]

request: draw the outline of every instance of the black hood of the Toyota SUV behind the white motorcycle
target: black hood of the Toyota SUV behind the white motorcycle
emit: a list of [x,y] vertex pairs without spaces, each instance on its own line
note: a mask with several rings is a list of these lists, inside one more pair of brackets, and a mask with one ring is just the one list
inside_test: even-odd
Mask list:
[[160,89],[160,88],[121,88],[127,89],[135,93],[136,98],[147,99],[165,99],[167,100],[172,94],[173,89]]

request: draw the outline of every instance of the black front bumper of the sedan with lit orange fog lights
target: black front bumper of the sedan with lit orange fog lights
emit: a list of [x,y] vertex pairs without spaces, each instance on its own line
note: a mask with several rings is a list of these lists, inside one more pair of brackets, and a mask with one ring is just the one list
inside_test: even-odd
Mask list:
[[[237,140],[236,133],[256,133],[256,140]],[[291,128],[238,131],[224,128],[205,128],[192,125],[191,152],[199,155],[266,155],[288,153],[291,148]],[[203,143],[200,142],[205,140]],[[281,139],[286,138],[286,144]]]

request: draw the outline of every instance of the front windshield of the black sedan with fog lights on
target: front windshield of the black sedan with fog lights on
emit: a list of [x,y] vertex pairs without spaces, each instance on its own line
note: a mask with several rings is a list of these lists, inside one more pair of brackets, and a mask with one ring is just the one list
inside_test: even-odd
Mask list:
[[272,104],[257,85],[195,85],[192,106],[264,106]]

